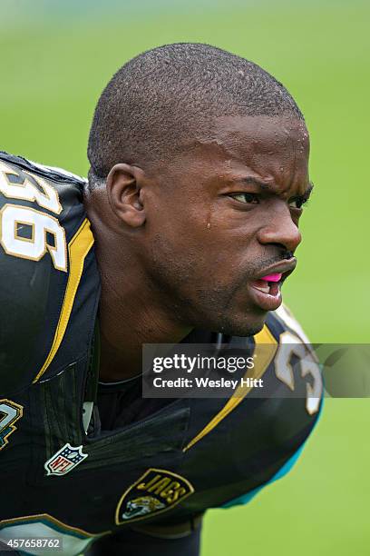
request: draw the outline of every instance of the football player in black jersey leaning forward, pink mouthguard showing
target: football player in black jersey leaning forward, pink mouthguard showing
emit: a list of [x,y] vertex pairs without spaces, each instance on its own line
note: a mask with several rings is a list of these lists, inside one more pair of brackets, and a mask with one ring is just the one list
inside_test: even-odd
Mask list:
[[[0,155],[0,539],[196,556],[204,512],[285,474],[319,413],[281,305],[307,127],[258,65],[166,45],[112,77],[88,155],[88,182]],[[251,346],[268,394],[144,399],[143,343]]]

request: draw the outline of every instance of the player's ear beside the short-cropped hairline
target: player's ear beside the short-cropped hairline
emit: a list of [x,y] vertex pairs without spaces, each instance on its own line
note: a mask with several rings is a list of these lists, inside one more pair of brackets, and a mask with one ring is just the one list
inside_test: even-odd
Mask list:
[[115,164],[106,181],[113,213],[131,228],[142,226],[146,219],[141,194],[143,178],[141,168],[130,164]]

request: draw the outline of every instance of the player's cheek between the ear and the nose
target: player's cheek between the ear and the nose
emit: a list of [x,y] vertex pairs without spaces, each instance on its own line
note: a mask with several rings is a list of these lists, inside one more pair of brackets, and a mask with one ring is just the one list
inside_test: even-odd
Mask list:
[[236,211],[222,199],[195,203],[172,196],[164,203],[155,207],[146,229],[151,262],[162,273],[195,285],[231,284],[258,258],[258,215]]

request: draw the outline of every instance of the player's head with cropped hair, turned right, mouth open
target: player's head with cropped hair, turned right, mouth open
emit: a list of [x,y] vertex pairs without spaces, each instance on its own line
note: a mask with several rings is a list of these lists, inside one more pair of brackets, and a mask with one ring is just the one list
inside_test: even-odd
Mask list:
[[277,303],[259,279],[292,257],[309,189],[307,129],[285,87],[213,46],[155,48],[104,89],[88,155],[122,250],[179,318],[258,331]]

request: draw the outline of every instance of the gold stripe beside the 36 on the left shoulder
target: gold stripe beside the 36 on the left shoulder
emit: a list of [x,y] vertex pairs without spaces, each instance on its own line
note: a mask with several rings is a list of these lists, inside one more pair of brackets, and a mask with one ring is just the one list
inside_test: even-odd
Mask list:
[[63,336],[72,313],[74,297],[77,293],[81,276],[83,275],[84,260],[92,246],[93,233],[90,228],[90,222],[86,218],[78,231],[73,235],[71,242],[68,244],[70,272],[67,287],[64,293],[62,311],[59,315],[59,322],[54,334],[52,348],[46,357],[44,365],[34,378],[34,382],[37,382],[40,377],[43,376],[44,372],[53,361],[55,353],[58,351],[59,346],[63,341]]

